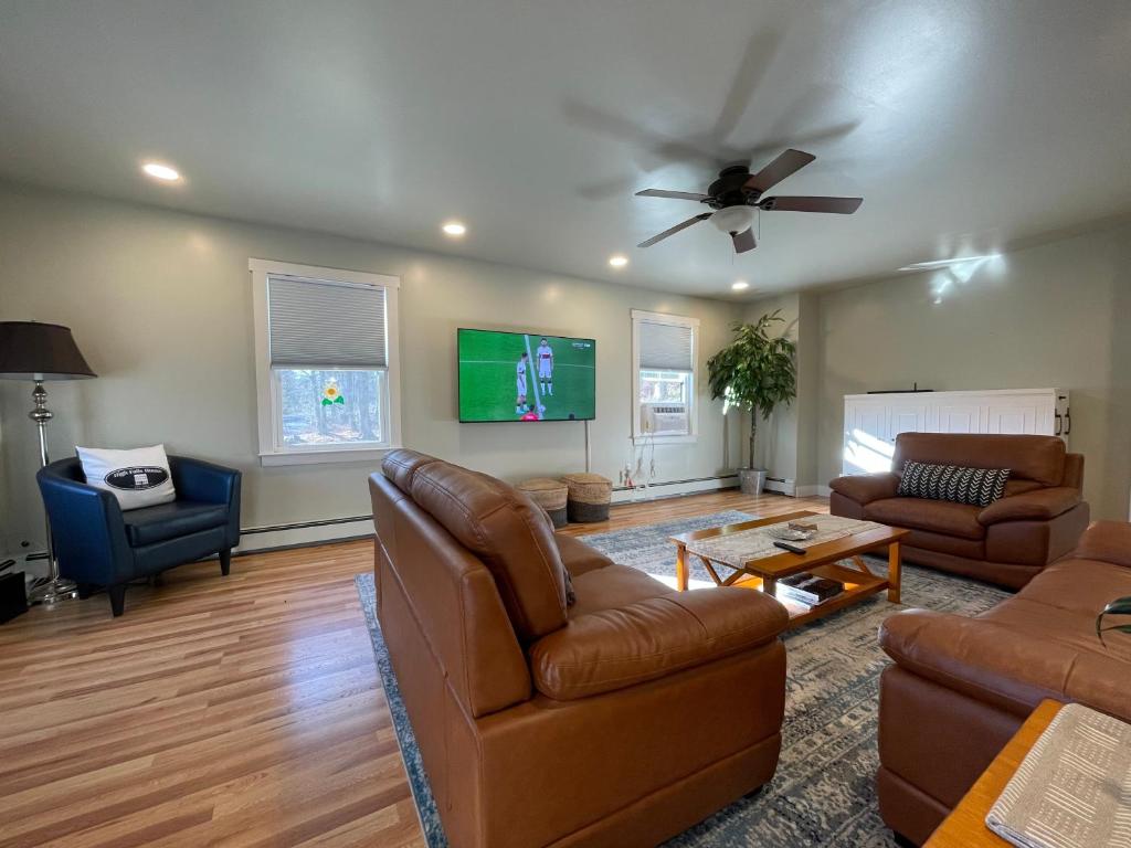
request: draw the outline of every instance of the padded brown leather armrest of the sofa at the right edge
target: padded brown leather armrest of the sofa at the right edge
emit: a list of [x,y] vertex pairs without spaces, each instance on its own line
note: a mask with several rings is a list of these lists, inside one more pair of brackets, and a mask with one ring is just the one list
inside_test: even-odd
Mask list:
[[880,646],[901,668],[1025,717],[1045,698],[1079,701],[1131,719],[1126,660],[990,621],[908,609],[880,626]]

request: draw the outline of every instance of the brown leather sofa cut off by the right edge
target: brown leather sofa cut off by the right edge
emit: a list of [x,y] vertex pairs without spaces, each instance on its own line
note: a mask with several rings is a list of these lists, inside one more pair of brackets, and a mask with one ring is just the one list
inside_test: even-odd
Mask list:
[[880,643],[880,812],[922,845],[1045,698],[1131,721],[1131,637],[1096,616],[1131,596],[1131,525],[1097,521],[1068,557],[974,618],[908,609]]

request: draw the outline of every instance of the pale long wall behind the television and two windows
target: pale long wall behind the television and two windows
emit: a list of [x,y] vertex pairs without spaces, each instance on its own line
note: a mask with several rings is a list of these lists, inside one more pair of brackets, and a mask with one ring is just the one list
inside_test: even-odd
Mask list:
[[[405,444],[511,479],[581,469],[584,425],[459,424],[457,327],[596,338],[593,469],[615,481],[630,450],[629,310],[699,318],[700,436],[658,449],[658,473],[725,470],[720,407],[706,401],[703,366],[740,314],[725,302],[3,184],[0,257],[0,319],[71,327],[100,374],[49,383],[52,456],[76,443],[165,442],[234,466],[244,473],[245,527],[368,514],[374,469],[259,466],[250,257],[399,276]],[[0,381],[0,550],[42,544],[29,397],[29,383]],[[731,427],[732,464],[739,431]]]

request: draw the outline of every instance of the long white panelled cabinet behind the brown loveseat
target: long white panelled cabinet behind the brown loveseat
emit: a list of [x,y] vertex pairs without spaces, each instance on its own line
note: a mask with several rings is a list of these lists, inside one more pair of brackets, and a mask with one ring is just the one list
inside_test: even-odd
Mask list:
[[1071,433],[1069,393],[1061,389],[908,391],[845,395],[844,474],[891,468],[900,433]]

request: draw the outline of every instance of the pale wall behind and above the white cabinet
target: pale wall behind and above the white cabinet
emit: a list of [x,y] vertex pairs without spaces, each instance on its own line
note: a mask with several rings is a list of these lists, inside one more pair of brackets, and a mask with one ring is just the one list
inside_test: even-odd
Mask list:
[[820,295],[819,481],[840,474],[845,395],[914,382],[1053,387],[1072,393],[1070,449],[1085,455],[1093,516],[1125,520],[1131,225],[1016,250],[959,277],[905,274]]

